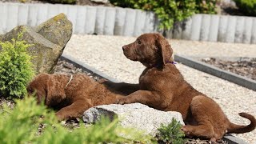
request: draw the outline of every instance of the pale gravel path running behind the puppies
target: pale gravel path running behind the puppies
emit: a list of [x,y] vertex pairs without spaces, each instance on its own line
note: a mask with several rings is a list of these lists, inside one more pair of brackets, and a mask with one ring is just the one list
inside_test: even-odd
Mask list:
[[[134,40],[135,38],[119,36],[73,35],[64,54],[85,62],[119,81],[136,83],[144,66],[140,62],[128,60],[122,54],[122,46]],[[256,56],[256,45],[174,39],[170,40],[170,44],[174,53],[189,56],[254,58]],[[231,122],[248,124],[246,119],[238,116],[239,112],[247,112],[256,116],[256,91],[248,90],[180,63],[177,67],[194,88],[218,102]],[[246,142],[256,143],[256,130],[235,135]]]

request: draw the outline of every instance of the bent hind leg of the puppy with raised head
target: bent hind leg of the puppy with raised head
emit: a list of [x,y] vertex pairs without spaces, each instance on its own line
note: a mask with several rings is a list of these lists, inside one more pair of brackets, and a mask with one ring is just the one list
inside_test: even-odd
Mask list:
[[190,102],[192,118],[198,126],[183,126],[186,135],[209,138],[216,142],[225,134],[225,115],[216,102],[212,99],[198,95]]

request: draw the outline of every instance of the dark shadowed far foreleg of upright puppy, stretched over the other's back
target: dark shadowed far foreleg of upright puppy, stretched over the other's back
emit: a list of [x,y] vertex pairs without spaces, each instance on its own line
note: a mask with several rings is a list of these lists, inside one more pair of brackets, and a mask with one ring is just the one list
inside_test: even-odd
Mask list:
[[104,81],[100,82],[105,86],[110,87],[112,90],[116,90],[122,94],[132,94],[135,91],[139,90],[138,84],[130,84],[126,82],[120,82],[120,83],[115,83],[115,82],[110,82],[110,81]]

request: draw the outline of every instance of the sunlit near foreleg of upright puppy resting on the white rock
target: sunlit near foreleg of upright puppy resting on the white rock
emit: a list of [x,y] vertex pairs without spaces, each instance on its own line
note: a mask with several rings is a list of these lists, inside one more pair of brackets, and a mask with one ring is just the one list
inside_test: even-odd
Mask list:
[[126,97],[119,98],[116,103],[123,105],[123,104],[139,102],[144,105],[154,107],[154,106],[162,105],[161,100],[162,99],[160,98],[160,96],[152,91],[138,90]]

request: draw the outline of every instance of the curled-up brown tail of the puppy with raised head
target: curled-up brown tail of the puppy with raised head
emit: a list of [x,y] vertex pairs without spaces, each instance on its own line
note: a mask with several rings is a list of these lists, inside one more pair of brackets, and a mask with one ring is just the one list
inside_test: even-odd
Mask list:
[[240,126],[230,122],[230,125],[227,128],[227,133],[236,133],[242,134],[247,133],[255,129],[256,127],[256,119],[254,116],[247,114],[247,113],[239,113],[239,115],[243,118],[247,118],[250,120],[250,125],[247,126]]

